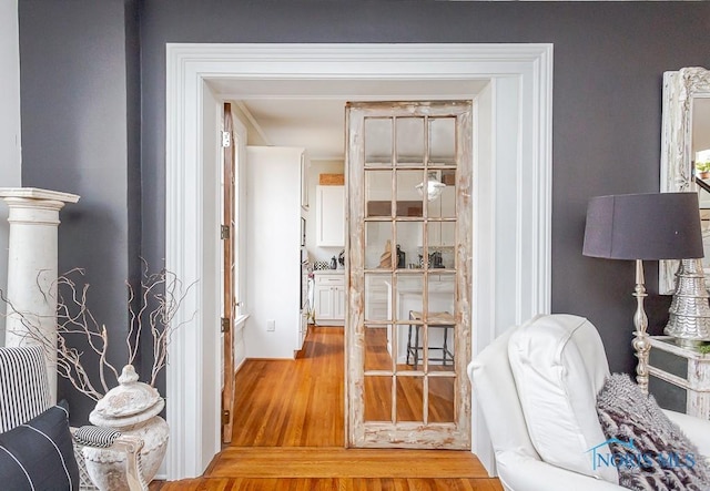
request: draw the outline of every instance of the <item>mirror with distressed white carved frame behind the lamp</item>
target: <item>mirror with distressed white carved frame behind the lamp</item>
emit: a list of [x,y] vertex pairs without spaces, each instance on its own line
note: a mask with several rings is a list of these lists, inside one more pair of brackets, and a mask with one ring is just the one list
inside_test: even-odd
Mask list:
[[[692,67],[663,73],[661,192],[697,191],[702,221],[702,259],[710,287],[710,70]],[[659,262],[658,291],[673,293],[677,260]]]

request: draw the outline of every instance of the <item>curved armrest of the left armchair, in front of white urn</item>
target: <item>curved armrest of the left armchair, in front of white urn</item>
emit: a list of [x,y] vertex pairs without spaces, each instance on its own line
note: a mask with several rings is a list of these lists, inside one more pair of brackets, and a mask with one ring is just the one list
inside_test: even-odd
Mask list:
[[[74,450],[80,473],[87,475],[85,462],[81,453],[82,447],[103,448],[126,456],[125,477],[131,491],[148,491],[148,483],[143,480],[141,470],[141,449],[143,440],[132,434],[122,434],[120,431],[108,428],[85,426],[81,428],[70,428],[74,439]],[[84,488],[82,488],[84,489]],[[87,487],[85,489],[91,489]]]

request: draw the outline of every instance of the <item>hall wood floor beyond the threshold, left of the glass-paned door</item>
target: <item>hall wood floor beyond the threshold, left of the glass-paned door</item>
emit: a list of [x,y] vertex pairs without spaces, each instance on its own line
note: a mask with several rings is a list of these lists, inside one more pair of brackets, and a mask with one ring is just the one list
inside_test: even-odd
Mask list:
[[343,351],[343,327],[310,326],[298,359],[247,359],[231,447],[344,447]]

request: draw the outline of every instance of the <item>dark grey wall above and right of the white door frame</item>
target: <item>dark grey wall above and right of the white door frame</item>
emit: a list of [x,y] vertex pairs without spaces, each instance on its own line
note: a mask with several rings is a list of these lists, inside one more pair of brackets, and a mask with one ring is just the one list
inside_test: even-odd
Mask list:
[[166,42],[551,42],[552,310],[588,316],[630,371],[632,264],[581,256],[587,201],[658,191],[662,73],[710,67],[709,28],[706,2],[145,1],[143,250],[164,248]]

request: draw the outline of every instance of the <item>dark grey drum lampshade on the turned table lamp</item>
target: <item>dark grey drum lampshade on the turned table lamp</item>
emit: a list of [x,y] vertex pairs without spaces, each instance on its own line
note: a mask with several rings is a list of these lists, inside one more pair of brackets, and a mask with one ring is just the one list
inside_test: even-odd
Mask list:
[[592,197],[582,254],[609,259],[702,257],[698,193]]

